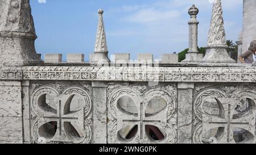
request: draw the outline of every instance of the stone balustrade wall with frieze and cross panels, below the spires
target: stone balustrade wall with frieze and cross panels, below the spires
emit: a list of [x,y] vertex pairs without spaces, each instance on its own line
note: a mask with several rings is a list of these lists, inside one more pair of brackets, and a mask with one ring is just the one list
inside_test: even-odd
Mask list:
[[256,68],[198,65],[5,69],[0,141],[255,143]]

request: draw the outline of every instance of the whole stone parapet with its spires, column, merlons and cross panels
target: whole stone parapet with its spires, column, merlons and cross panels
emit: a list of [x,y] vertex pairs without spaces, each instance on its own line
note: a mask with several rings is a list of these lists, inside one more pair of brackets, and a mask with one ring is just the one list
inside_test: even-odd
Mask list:
[[220,0],[203,60],[193,5],[188,62],[167,53],[160,64],[145,53],[110,62],[102,9],[90,62],[84,54],[43,62],[29,1],[0,2],[0,143],[255,143],[256,67],[228,57]]

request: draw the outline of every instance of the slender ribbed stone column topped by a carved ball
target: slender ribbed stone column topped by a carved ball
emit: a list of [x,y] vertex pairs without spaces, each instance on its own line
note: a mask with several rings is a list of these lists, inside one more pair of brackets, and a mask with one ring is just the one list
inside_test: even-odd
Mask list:
[[188,14],[191,17],[191,20],[189,20],[189,51],[186,55],[185,60],[182,62],[199,62],[203,55],[199,54],[199,51],[197,49],[197,35],[198,35],[198,24],[199,22],[196,19],[196,15],[199,13],[199,9],[196,8],[195,5],[192,5],[192,7],[188,10]]

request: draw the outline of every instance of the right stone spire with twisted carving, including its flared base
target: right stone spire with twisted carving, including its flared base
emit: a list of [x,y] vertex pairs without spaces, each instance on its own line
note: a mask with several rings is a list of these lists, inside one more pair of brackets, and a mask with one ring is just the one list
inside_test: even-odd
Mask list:
[[229,57],[226,45],[224,20],[222,17],[221,0],[213,2],[212,19],[208,35],[207,52],[202,62],[205,63],[234,63]]

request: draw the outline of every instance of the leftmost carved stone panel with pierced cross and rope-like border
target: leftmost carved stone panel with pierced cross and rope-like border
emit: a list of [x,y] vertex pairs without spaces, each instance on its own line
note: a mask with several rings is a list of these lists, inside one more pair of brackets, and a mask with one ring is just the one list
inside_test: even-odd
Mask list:
[[[75,102],[79,106],[74,109]],[[83,87],[70,86],[61,92],[57,87],[36,87],[31,111],[34,143],[91,143],[92,97]]]

